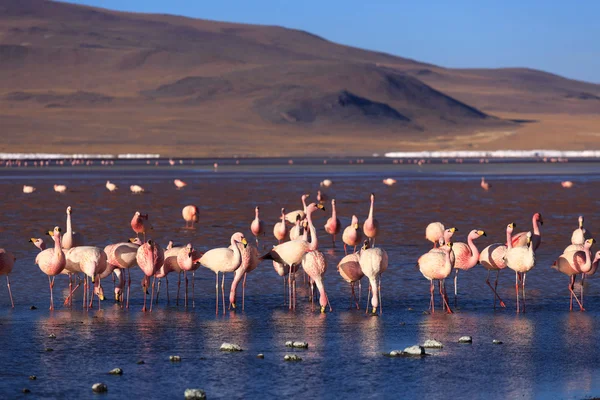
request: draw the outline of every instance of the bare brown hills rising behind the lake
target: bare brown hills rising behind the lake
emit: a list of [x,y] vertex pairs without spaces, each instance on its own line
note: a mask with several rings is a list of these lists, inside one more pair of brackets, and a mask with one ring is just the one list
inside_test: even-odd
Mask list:
[[[541,71],[445,69],[275,26],[0,0],[0,151],[580,148],[599,113],[600,85]],[[541,136],[546,116],[568,122],[568,141]]]

